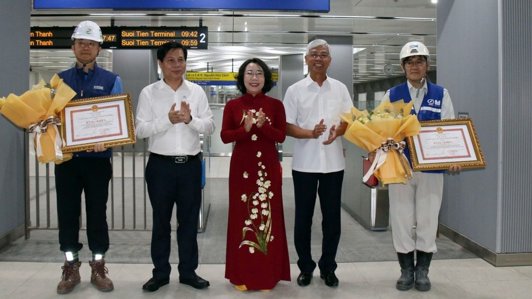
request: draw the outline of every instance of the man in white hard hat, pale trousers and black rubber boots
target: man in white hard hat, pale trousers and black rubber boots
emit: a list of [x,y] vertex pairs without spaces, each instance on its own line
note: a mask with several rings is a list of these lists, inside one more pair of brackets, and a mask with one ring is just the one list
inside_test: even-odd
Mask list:
[[[430,68],[427,47],[419,41],[411,41],[403,46],[399,56],[408,80],[389,89],[383,101],[414,101],[411,113],[417,115],[420,121],[455,118],[447,90],[425,79]],[[405,155],[410,160],[408,149],[405,150]],[[373,162],[374,153],[369,156]],[[412,167],[412,162],[410,166]],[[448,170],[458,172],[461,169],[460,165],[453,165]],[[436,252],[444,172],[445,170],[412,172],[412,179],[406,184],[388,185],[392,238],[401,265],[401,277],[395,287],[402,291],[414,285],[419,291],[428,291],[431,287],[427,275],[433,253]],[[415,233],[412,229],[414,226]],[[415,265],[414,251],[417,256]]]

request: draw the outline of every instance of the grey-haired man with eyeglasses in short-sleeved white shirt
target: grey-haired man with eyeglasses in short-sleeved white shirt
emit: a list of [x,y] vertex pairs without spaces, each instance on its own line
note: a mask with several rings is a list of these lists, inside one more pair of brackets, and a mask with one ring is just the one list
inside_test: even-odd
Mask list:
[[295,195],[294,243],[300,275],[297,284],[311,283],[316,262],[311,255],[311,227],[316,194],[323,217],[322,253],[318,261],[320,278],[330,287],[338,286],[336,252],[340,240],[340,195],[345,161],[342,140],[347,123],[339,115],[351,111],[353,101],[347,87],[327,76],[330,47],[317,39],[306,48],[309,74],[290,86],[283,101],[286,134],[294,137],[292,177]]

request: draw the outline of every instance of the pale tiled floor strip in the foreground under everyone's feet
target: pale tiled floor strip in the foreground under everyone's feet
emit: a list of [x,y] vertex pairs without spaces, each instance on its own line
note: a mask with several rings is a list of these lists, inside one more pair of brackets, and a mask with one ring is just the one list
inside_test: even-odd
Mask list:
[[[310,286],[295,283],[296,264],[291,265],[292,281],[281,281],[273,291],[240,292],[223,278],[225,265],[201,264],[197,274],[210,280],[205,290],[171,281],[155,293],[142,291],[151,277],[151,264],[110,263],[109,277],[114,291],[101,293],[90,284],[88,264],[81,266],[81,284],[69,295],[57,295],[61,263],[0,262],[0,298],[531,298],[532,267],[495,268],[481,259],[435,260],[430,267],[433,287],[428,292],[397,291],[397,262],[339,263],[337,288],[329,288],[314,273]],[[250,275],[253,268],[250,267]]]

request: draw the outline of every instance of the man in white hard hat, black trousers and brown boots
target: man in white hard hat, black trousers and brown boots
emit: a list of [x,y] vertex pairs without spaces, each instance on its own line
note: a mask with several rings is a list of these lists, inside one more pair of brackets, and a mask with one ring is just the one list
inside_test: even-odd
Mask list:
[[[83,21],[72,34],[72,52],[76,65],[59,73],[60,78],[77,92],[74,99],[109,96],[122,93],[122,81],[117,74],[100,69],[96,57],[103,42],[102,30],[92,21]],[[78,252],[81,193],[85,193],[87,239],[93,253],[89,265],[92,269],[90,282],[102,292],[112,291],[114,286],[107,278],[105,252],[109,249],[109,233],[106,219],[107,195],[111,180],[111,149],[97,143],[93,150],[76,152],[71,160],[55,165],[57,191],[57,218],[59,223],[60,250],[65,253],[63,276],[57,285],[57,293],[67,294],[80,283]]]

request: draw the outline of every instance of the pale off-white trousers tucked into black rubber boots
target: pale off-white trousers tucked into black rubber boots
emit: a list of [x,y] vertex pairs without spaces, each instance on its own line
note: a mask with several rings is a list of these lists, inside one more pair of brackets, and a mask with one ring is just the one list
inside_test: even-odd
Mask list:
[[388,193],[395,251],[436,252],[443,174],[412,172],[406,184],[389,184]]

